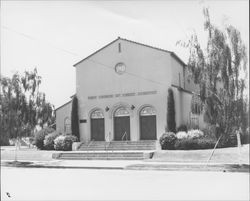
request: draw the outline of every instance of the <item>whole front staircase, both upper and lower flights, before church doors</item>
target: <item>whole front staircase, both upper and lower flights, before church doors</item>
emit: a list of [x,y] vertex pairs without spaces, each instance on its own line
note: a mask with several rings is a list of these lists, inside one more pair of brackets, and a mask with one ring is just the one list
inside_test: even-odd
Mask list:
[[156,140],[91,141],[82,143],[77,151],[54,153],[52,158],[62,160],[143,160],[153,157]]

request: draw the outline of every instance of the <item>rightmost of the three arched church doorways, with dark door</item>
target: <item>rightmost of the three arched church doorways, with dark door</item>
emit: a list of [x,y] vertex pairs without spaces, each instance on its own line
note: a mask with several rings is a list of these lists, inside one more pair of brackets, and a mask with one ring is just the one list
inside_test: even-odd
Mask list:
[[146,106],[140,111],[140,139],[156,140],[156,111]]

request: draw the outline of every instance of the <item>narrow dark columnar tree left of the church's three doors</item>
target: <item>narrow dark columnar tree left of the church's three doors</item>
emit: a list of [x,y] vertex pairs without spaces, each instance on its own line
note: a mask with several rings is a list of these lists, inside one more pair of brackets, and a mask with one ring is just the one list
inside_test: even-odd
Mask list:
[[80,140],[79,134],[79,117],[78,117],[78,99],[74,96],[72,100],[72,110],[71,110],[71,130],[72,135],[75,135],[78,140]]

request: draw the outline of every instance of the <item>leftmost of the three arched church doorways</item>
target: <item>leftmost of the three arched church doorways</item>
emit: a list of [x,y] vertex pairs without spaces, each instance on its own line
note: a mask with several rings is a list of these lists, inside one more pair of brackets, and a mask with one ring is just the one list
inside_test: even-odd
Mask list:
[[91,140],[104,141],[104,115],[99,109],[94,110],[90,115],[91,124]]

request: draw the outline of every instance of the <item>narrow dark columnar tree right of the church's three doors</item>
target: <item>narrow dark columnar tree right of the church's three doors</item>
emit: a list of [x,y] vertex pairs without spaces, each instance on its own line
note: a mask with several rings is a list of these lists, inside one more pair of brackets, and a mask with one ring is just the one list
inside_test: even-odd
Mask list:
[[176,130],[174,94],[171,88],[168,89],[167,127],[170,132],[175,132]]

